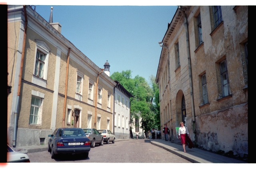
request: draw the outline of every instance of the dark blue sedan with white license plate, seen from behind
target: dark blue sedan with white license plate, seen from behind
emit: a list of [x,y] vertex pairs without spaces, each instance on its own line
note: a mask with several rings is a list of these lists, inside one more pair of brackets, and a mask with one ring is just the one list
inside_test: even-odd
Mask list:
[[86,158],[90,151],[90,140],[86,137],[82,128],[57,128],[48,142],[48,151],[51,151],[52,159],[57,154],[83,154]]

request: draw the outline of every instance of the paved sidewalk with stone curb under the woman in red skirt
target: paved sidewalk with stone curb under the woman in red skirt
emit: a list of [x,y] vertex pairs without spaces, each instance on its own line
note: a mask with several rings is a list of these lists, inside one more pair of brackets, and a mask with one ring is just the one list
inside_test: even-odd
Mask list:
[[162,139],[150,140],[151,144],[166,149],[175,155],[178,155],[192,163],[246,163],[237,159],[218,155],[198,148],[189,149],[186,146],[186,153],[183,151],[182,145],[165,141]]

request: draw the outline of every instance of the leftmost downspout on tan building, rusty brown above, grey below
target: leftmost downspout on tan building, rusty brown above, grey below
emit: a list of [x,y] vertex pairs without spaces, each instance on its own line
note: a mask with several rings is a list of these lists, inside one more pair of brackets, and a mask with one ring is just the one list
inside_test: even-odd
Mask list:
[[13,141],[12,146],[13,147],[16,147],[16,140],[17,140],[18,110],[19,110],[19,103],[20,103],[20,88],[21,88],[21,78],[22,78],[22,71],[23,71],[23,61],[24,61],[24,55],[25,55],[27,26],[28,26],[28,17],[27,17],[26,5],[23,5],[23,10],[24,10],[24,16],[25,16],[25,28],[24,28],[23,46],[22,46],[21,63],[20,63],[18,94],[17,94],[16,108],[15,108],[15,112],[14,112],[14,131],[13,131],[13,139],[12,139],[12,141]]

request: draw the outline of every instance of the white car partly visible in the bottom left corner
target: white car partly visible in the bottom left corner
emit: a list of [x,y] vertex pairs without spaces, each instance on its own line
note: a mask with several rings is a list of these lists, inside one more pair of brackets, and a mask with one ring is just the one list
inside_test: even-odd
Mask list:
[[28,155],[14,151],[7,144],[7,163],[30,163]]

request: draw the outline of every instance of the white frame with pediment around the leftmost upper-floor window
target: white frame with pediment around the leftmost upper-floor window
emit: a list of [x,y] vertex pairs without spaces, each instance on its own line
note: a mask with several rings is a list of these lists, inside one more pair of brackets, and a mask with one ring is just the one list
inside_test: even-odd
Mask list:
[[[36,53],[37,51],[40,51],[45,54],[45,60],[44,60],[44,73],[43,77],[39,77],[35,75],[36,70]],[[45,43],[45,41],[40,41],[36,39],[36,50],[35,50],[35,57],[34,57],[34,69],[33,69],[33,75],[32,75],[32,83],[46,87],[46,81],[47,81],[47,71],[48,71],[48,61],[49,61],[49,53],[51,49],[50,47]]]

